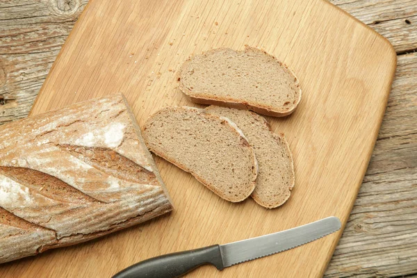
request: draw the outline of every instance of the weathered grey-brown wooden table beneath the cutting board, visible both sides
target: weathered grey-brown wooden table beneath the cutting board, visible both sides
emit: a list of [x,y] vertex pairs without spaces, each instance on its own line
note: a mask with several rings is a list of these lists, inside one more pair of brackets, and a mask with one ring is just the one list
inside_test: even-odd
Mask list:
[[[28,115],[88,0],[0,1],[0,124]],[[391,41],[398,67],[326,277],[417,277],[417,0],[332,0]]]

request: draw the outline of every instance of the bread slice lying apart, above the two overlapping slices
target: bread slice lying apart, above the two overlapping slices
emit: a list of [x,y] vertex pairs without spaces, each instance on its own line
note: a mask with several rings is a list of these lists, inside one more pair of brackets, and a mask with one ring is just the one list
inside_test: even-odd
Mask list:
[[297,77],[274,56],[254,47],[220,48],[189,58],[179,88],[197,104],[249,109],[275,117],[293,113],[301,100]]

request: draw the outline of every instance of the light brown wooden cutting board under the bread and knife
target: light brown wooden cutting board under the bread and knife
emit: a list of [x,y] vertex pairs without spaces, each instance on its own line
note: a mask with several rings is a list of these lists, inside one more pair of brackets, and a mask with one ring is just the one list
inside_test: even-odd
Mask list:
[[[395,72],[391,44],[322,0],[90,0],[31,115],[123,92],[142,126],[164,106],[191,105],[175,74],[190,54],[262,47],[298,76],[295,113],[268,118],[286,133],[296,183],[281,208],[231,204],[161,158],[171,215],[98,240],[1,266],[0,276],[108,277],[168,252],[261,236],[336,215],[345,223],[373,151]],[[189,277],[320,277],[342,231],[287,252]]]

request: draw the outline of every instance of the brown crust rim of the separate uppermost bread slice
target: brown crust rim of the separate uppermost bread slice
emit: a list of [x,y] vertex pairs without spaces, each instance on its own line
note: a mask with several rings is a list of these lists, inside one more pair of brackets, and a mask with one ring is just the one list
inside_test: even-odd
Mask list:
[[[201,54],[210,52],[210,51],[216,51],[219,49],[224,49],[226,47],[220,47],[218,49],[211,49],[208,51],[202,51]],[[270,107],[266,107],[266,106],[262,106],[262,105],[252,105],[252,104],[248,104],[246,101],[236,101],[236,99],[227,99],[227,98],[219,98],[219,97],[197,97],[196,95],[194,95],[194,92],[191,92],[190,89],[186,88],[186,86],[183,85],[183,83],[181,82],[181,76],[183,73],[183,68],[186,66],[186,64],[188,64],[190,62],[190,60],[194,57],[194,55],[190,56],[184,63],[183,65],[181,65],[179,71],[177,72],[177,81],[179,82],[179,89],[184,93],[184,95],[186,95],[187,99],[189,101],[192,101],[196,104],[206,104],[206,105],[217,105],[217,106],[225,106],[225,107],[231,107],[231,108],[237,108],[237,109],[245,109],[245,110],[250,110],[250,111],[254,111],[256,113],[262,114],[262,115],[267,115],[267,116],[272,116],[272,117],[284,117],[287,115],[291,115],[291,113],[293,113],[295,111],[295,109],[298,107],[298,104],[300,104],[300,101],[302,99],[302,90],[300,87],[300,82],[298,81],[297,76],[294,74],[294,72],[284,63],[281,63],[279,60],[277,60],[277,58],[275,58],[275,56],[272,56],[271,54],[268,54],[265,50],[263,49],[259,49],[256,47],[250,47],[247,44],[245,45],[245,50],[247,51],[248,49],[256,49],[259,51],[262,51],[265,55],[268,55],[270,57],[272,57],[277,63],[279,63],[279,65],[281,65],[282,67],[284,67],[284,69],[288,70],[288,72],[290,72],[294,77],[295,77],[295,82],[298,84],[298,88],[299,88],[299,93],[298,93],[298,98],[297,98],[297,102],[295,104],[293,104],[293,108],[291,110],[288,111],[277,111],[274,110]]]

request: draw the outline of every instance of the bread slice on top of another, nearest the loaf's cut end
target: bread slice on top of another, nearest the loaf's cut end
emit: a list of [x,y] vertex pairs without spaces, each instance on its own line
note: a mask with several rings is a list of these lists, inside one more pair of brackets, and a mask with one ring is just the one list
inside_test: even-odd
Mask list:
[[149,117],[143,138],[152,152],[227,201],[243,201],[255,188],[254,150],[225,118],[203,109],[168,107]]

